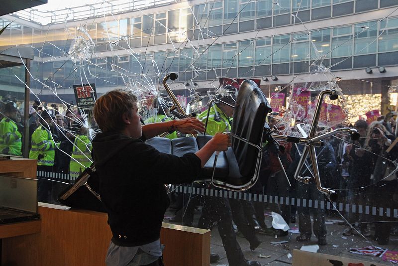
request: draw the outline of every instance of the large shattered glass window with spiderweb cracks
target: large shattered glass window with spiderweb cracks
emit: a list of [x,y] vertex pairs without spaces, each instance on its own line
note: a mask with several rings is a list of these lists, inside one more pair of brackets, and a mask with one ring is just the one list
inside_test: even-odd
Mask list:
[[[178,120],[169,112],[178,102],[202,121],[215,109],[209,120],[225,126],[233,115],[208,104],[234,98],[251,79],[272,109],[257,181],[247,191],[219,189],[211,178],[167,184],[166,222],[214,227],[216,265],[234,265],[230,254],[240,255],[226,252],[226,239],[261,265],[291,265],[293,250],[338,256],[325,257],[330,265],[398,261],[396,0],[56,5],[0,17],[0,153],[29,157],[38,149],[33,133],[48,128],[57,163],[39,167],[47,189],[40,201],[58,204],[55,195],[92,163],[100,129],[88,103],[104,93],[133,92],[144,123]],[[175,99],[162,83],[171,73]],[[11,121],[13,134],[2,132]],[[220,200],[209,217],[206,204]],[[225,210],[230,235],[215,232]]]

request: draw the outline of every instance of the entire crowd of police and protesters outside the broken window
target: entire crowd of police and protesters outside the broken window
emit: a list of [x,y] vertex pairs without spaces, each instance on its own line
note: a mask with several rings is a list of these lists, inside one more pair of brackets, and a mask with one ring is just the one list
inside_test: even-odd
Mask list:
[[[228,102],[227,98],[223,100]],[[229,131],[232,123],[232,110],[222,103],[216,104],[210,109],[207,133]],[[1,103],[1,154],[22,156],[25,137],[24,118],[19,110],[15,100],[6,99]],[[203,123],[205,123],[206,114],[207,110],[198,115],[198,119]],[[87,128],[84,126],[87,121],[87,117],[84,116],[73,108],[67,109],[66,112],[60,112],[56,106],[44,108],[37,101],[33,103],[32,112],[27,119],[29,127],[28,156],[38,160],[38,171],[69,174],[74,180],[85,167],[90,166],[92,163],[91,141]],[[268,124],[271,129],[278,127],[279,118],[278,113],[268,116]],[[169,120],[169,116],[158,113],[156,118],[149,118],[145,123],[160,122],[158,120]],[[300,121],[296,123],[300,123]],[[390,233],[395,230],[393,215],[388,215],[387,211],[396,209],[398,206],[398,186],[395,173],[398,145],[395,145],[397,137],[395,121],[381,116],[372,123],[358,120],[348,127],[358,131],[360,134],[358,140],[351,140],[345,135],[336,135],[326,139],[324,145],[316,148],[321,183],[323,187],[331,188],[339,194],[339,202],[350,206],[349,209],[341,213],[349,222],[346,224],[344,232],[341,232],[343,235],[372,236],[379,245],[386,245],[389,243]],[[296,131],[296,128],[292,127],[291,131]],[[168,137],[178,136],[173,133]],[[288,235],[286,231],[267,227],[264,219],[264,212],[267,208],[281,214],[287,224],[294,224],[298,219],[300,232],[296,238],[298,242],[309,241],[314,235],[318,245],[327,245],[326,216],[338,216],[340,213],[337,214],[333,210],[328,211],[321,206],[328,199],[317,190],[313,178],[309,179],[308,184],[298,182],[294,178],[302,146],[290,142],[282,144],[284,148],[278,149],[271,143],[264,143],[260,178],[248,192],[312,200],[318,204],[317,206],[308,208],[304,204],[298,206],[298,204],[291,204],[292,202],[265,204],[243,199],[170,193],[170,197],[174,201],[170,210],[176,214],[171,221],[207,229],[217,225],[230,261],[239,256],[243,258],[236,241],[236,230],[238,230],[237,234],[247,239],[251,250],[255,250],[261,244],[257,234],[280,237]],[[309,161],[301,169],[299,175],[312,176]],[[289,186],[289,182],[291,186]],[[39,182],[38,186],[39,200],[43,200],[49,196],[48,183]],[[194,186],[211,188],[211,185],[206,183],[194,184]],[[198,206],[202,206],[202,208],[199,224],[196,225],[193,216]],[[375,206],[378,208],[378,214],[382,215],[369,215],[364,211],[353,211],[352,206],[357,206],[357,208]],[[236,230],[233,230],[234,224]],[[217,258],[217,255],[211,255],[212,262]],[[238,259],[243,260],[242,258]]]

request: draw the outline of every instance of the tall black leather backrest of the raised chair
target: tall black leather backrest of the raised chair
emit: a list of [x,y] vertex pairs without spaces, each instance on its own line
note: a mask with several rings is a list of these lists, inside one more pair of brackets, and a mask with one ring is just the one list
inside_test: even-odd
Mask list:
[[[236,99],[231,133],[261,146],[267,114],[272,111],[260,88],[251,80],[242,82]],[[232,138],[241,175],[250,181],[256,170],[258,150],[236,138]]]

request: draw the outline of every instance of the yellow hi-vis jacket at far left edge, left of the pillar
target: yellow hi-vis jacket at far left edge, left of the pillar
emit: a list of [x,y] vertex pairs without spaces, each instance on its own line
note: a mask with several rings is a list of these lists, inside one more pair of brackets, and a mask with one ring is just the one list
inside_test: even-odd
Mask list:
[[15,122],[8,118],[0,121],[0,153],[21,156],[21,138]]

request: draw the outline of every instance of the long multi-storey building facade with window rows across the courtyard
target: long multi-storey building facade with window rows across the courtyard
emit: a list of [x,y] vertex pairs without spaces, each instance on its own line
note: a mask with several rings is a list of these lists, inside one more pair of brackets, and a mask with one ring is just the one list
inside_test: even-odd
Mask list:
[[[350,84],[348,94],[369,92],[369,82],[361,80],[380,93],[382,82],[391,84],[398,76],[395,0],[140,3],[5,15],[0,27],[18,19],[0,35],[0,47],[34,47],[32,76],[66,98],[73,96],[74,84],[95,83],[101,93],[147,83],[148,77],[158,84],[170,72],[179,73],[175,90],[206,90],[229,77],[262,79],[269,92],[293,77],[305,79],[311,65],[323,65],[340,77],[340,87]],[[94,43],[84,67],[68,53],[77,36]],[[12,73],[3,76],[4,85],[19,82]]]

